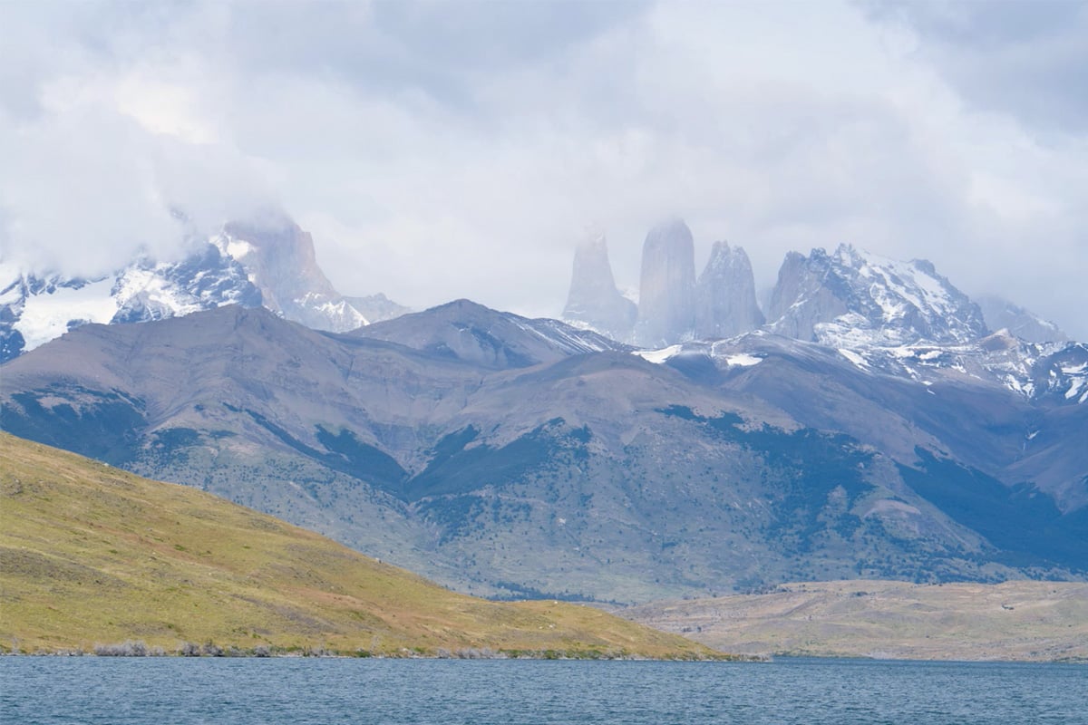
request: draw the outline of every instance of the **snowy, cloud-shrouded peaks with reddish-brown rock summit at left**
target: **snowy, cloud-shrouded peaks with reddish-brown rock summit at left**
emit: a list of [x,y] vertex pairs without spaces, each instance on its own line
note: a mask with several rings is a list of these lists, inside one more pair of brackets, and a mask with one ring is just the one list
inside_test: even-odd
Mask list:
[[177,260],[147,255],[91,278],[0,263],[0,362],[86,323],[175,317],[223,304],[264,307],[314,329],[346,332],[408,311],[384,295],[345,297],[318,266],[313,239],[282,215],[189,239]]

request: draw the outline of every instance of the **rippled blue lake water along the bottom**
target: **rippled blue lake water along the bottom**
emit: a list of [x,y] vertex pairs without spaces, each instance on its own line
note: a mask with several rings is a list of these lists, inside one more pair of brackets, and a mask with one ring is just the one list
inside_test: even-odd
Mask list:
[[1088,666],[3,657],[0,723],[1088,724]]

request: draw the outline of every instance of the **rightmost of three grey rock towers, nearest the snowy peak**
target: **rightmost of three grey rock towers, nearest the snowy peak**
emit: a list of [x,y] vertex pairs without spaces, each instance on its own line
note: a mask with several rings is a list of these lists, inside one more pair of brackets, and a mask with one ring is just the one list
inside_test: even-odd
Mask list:
[[695,336],[733,337],[765,322],[755,298],[752,262],[740,247],[714,243],[695,285]]

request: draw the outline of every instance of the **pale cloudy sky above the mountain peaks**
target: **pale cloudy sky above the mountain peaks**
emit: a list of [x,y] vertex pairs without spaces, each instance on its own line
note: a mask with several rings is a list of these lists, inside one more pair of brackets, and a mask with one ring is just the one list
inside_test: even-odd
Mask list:
[[[1088,2],[0,0],[0,255],[280,210],[346,295],[557,316],[650,226],[928,259],[1088,340]],[[184,223],[180,221],[180,214]]]

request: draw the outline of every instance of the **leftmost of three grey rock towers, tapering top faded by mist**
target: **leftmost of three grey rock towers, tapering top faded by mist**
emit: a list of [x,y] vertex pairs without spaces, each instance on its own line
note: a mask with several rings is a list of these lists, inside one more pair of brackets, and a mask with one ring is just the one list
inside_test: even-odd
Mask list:
[[570,293],[562,318],[583,324],[613,339],[631,337],[639,309],[616,289],[603,234],[586,236],[574,250]]

